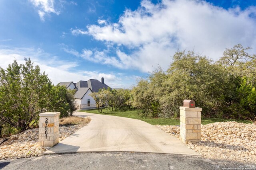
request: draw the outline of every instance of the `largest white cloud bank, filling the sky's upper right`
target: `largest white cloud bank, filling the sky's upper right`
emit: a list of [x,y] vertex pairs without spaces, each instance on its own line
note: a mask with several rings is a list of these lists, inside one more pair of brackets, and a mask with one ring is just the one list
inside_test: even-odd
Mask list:
[[194,49],[217,60],[225,48],[238,43],[255,47],[256,20],[251,14],[256,14],[256,7],[225,10],[201,0],[162,0],[158,4],[142,0],[137,10],[125,10],[117,23],[98,20],[98,25],[88,25],[87,30],[72,31],[92,35],[116,51],[113,57],[108,51],[92,50],[86,59],[147,72],[157,64],[167,68],[177,49]]

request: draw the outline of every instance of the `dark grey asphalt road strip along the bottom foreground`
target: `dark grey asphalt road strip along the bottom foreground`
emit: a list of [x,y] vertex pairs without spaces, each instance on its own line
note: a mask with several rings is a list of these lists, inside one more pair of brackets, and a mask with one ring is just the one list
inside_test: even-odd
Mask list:
[[256,164],[208,160],[198,156],[130,152],[54,154],[0,161],[2,170],[223,170],[224,168],[256,170]]

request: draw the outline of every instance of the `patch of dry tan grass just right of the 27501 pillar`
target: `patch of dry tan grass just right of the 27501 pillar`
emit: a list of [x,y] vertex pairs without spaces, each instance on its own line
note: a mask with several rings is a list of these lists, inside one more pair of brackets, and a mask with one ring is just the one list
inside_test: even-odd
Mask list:
[[60,119],[60,125],[87,125],[91,121],[90,117],[69,116]]

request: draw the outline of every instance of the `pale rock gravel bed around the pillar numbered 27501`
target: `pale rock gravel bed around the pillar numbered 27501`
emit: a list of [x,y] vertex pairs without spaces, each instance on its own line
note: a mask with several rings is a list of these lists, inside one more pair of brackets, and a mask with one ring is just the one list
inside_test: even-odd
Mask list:
[[[62,141],[83,126],[85,125],[60,126],[59,141]],[[0,138],[0,141],[2,140]],[[48,149],[50,147],[38,146],[38,128],[29,129],[17,135],[10,136],[8,141],[0,145],[0,160],[40,156]]]

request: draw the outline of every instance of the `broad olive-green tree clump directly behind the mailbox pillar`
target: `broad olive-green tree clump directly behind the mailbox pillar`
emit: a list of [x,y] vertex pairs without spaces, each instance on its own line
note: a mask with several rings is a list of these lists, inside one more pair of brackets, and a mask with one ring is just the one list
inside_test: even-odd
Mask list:
[[167,72],[157,68],[133,89],[133,106],[144,108],[144,115],[178,117],[184,99],[195,100],[204,115],[218,110],[221,96],[228,93],[228,72],[210,59],[193,51],[179,51]]

